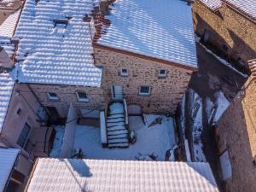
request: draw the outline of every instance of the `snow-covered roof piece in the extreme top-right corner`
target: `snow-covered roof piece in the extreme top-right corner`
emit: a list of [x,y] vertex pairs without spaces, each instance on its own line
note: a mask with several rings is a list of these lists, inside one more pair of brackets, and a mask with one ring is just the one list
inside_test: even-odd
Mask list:
[[224,2],[229,3],[231,6],[252,17],[253,20],[256,20],[255,0],[224,0]]

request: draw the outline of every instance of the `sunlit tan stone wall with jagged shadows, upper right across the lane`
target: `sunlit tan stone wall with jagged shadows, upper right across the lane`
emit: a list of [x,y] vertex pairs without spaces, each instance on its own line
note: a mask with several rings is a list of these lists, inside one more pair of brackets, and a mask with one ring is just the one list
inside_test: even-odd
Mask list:
[[192,12],[195,32],[201,37],[206,30],[210,32],[209,44],[236,61],[238,67],[246,66],[247,60],[256,57],[255,22],[227,5],[214,13],[199,0],[193,4]]

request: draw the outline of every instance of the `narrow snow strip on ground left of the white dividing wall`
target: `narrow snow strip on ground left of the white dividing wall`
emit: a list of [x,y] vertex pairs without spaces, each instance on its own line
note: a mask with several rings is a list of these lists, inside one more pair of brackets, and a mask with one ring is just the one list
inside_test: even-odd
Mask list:
[[55,126],[55,131],[56,131],[55,141],[54,141],[53,147],[49,153],[49,156],[57,158],[61,154],[61,146],[63,143],[65,126],[61,126],[61,125]]

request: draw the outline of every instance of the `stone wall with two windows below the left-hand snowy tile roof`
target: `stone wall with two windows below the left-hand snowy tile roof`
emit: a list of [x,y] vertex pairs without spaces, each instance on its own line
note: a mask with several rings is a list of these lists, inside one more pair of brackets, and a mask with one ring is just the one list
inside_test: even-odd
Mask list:
[[[67,117],[70,103],[73,103],[73,107],[78,109],[79,115],[81,115],[79,110],[81,108],[100,110],[104,109],[106,105],[106,96],[104,96],[102,88],[48,84],[31,84],[30,86],[44,107],[55,107],[61,117]],[[58,101],[50,100],[49,92],[54,92],[60,99]],[[79,102],[76,92],[85,92],[89,102]]]

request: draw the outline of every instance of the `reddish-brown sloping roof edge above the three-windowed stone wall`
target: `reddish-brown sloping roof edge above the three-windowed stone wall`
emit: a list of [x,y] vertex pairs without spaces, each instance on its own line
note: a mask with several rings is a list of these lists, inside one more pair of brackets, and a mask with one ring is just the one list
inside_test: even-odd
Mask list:
[[170,65],[170,66],[178,67],[178,68],[183,68],[183,69],[186,69],[186,70],[189,70],[189,71],[192,71],[192,72],[195,72],[195,71],[198,70],[198,67],[190,67],[190,66],[186,66],[186,65],[183,65],[183,64],[180,64],[180,63],[177,63],[177,62],[173,62],[173,61],[166,61],[166,60],[155,58],[155,57],[148,56],[148,55],[142,55],[142,54],[133,53],[133,52],[127,51],[127,50],[116,49],[116,48],[113,48],[113,47],[110,47],[110,46],[98,44],[96,42],[94,42],[92,44],[92,46],[94,48],[106,49],[106,50],[114,51],[114,52],[117,52],[117,53],[120,53],[120,54],[135,56],[135,57],[138,57],[140,59],[144,59],[144,60],[148,60],[148,61],[161,62],[161,63],[166,64],[166,65]]

